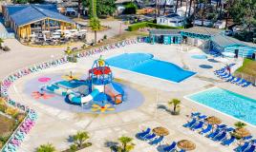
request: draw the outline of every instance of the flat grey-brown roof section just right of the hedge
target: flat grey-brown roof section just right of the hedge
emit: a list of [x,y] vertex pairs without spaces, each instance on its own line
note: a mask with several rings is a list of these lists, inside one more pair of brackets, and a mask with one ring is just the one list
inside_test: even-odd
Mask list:
[[212,35],[216,35],[216,34],[221,33],[223,31],[223,29],[193,27],[193,28],[186,28],[186,29],[183,29],[181,31],[212,36]]

